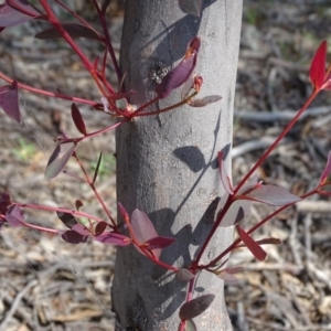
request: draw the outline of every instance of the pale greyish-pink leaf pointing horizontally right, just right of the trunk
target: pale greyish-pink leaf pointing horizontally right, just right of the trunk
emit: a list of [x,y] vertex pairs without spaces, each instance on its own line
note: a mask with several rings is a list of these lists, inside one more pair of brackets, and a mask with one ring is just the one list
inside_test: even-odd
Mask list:
[[248,194],[241,195],[239,199],[248,199],[277,206],[296,203],[301,200],[299,196],[289,193],[287,190],[275,185],[260,185]]

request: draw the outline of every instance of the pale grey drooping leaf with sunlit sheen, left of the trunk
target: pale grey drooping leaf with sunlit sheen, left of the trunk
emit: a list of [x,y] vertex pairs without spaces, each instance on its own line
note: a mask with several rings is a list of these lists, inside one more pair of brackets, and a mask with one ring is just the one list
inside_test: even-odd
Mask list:
[[68,159],[75,151],[75,148],[76,143],[72,141],[58,143],[56,146],[45,169],[46,179],[55,178],[63,170]]

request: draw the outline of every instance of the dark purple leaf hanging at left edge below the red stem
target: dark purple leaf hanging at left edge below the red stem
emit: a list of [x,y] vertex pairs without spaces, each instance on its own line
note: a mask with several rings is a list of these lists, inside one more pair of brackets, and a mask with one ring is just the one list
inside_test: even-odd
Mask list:
[[0,107],[12,119],[14,119],[18,122],[21,122],[21,113],[19,107],[19,89],[17,81],[13,81],[11,85],[4,85],[0,87]]

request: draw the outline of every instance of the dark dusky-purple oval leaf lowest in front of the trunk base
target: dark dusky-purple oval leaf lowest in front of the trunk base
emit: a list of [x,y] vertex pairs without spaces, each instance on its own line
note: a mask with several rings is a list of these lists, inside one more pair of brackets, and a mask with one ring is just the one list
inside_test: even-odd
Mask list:
[[203,295],[185,302],[179,311],[180,319],[185,321],[197,317],[212,305],[214,298],[214,295]]

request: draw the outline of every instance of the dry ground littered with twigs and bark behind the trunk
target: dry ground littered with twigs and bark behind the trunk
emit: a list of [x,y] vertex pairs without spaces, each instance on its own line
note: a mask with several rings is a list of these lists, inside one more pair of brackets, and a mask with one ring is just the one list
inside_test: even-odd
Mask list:
[[[330,0],[245,1],[234,180],[254,164],[309,95],[307,71],[313,51],[321,40],[331,42],[329,4]],[[121,17],[120,7],[114,7],[110,33],[117,50]],[[89,76],[64,43],[31,38],[41,29],[32,22],[1,33],[1,72],[36,87],[97,99]],[[83,42],[83,46],[89,52],[97,50],[90,42]],[[50,182],[43,178],[58,128],[75,130],[70,103],[26,93],[21,93],[20,100],[22,126],[0,114],[0,191],[9,190],[18,201],[70,207],[81,199],[90,213],[102,213],[87,186],[67,177]],[[296,194],[317,183],[331,149],[330,102],[331,94],[323,93],[263,164],[259,175],[266,183]],[[90,129],[108,120],[88,108],[83,111]],[[84,145],[83,161],[89,169],[95,167],[96,150],[106,156],[102,177],[107,181],[100,181],[98,188],[115,212],[114,137],[103,136]],[[256,223],[269,211],[254,206],[247,223]],[[245,267],[238,284],[226,287],[234,330],[331,330],[330,211],[329,199],[316,196],[269,222],[257,236],[279,237],[284,244],[268,247],[264,263],[254,260],[247,250],[232,256],[233,265]],[[55,216],[42,212],[26,217],[36,224],[60,226]],[[109,287],[114,253],[113,247],[97,243],[74,246],[57,237],[6,227],[0,237],[0,331],[113,330]]]

